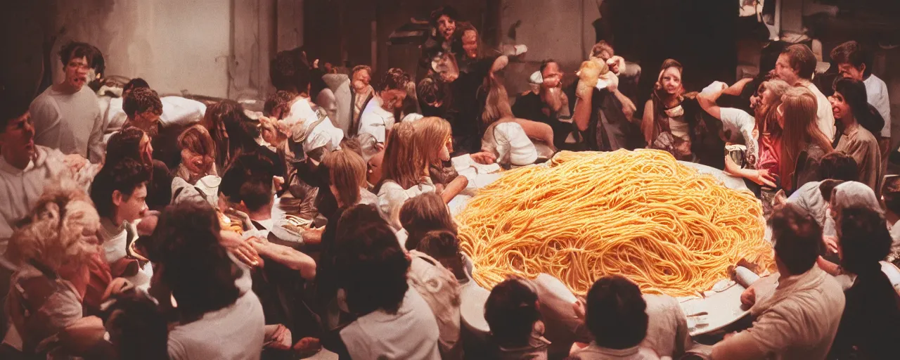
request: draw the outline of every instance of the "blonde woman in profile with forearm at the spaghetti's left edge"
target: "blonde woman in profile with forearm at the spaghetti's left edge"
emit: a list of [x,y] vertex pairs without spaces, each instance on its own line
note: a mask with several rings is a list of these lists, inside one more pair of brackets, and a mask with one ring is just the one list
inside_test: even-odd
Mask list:
[[455,175],[451,179],[452,175],[444,172],[444,162],[450,161],[450,152],[453,151],[450,122],[438,117],[427,117],[416,121],[413,126],[416,129],[417,147],[425,157],[424,174],[430,175],[434,171],[437,176],[431,176],[431,180],[435,183],[437,193],[444,202],[450,202],[469,184],[469,179],[465,176]]

